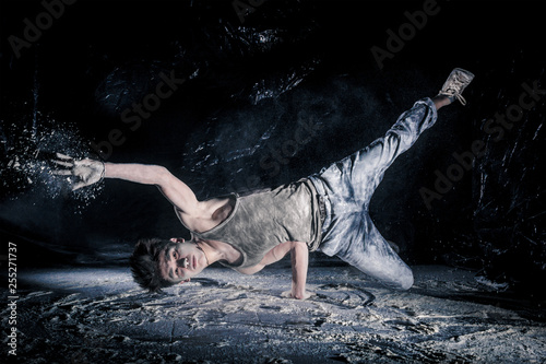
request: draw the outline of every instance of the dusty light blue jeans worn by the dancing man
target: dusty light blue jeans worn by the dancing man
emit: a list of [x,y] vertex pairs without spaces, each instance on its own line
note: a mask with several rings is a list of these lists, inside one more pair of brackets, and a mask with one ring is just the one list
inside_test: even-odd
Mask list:
[[408,290],[413,285],[412,269],[381,236],[368,209],[387,168],[436,119],[432,101],[420,99],[384,137],[309,177],[325,209],[319,251],[340,257],[388,287]]

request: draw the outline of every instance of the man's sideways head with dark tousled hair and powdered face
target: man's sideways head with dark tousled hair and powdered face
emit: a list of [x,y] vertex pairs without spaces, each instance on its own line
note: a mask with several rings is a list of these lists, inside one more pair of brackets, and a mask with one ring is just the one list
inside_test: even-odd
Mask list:
[[183,239],[144,239],[130,258],[134,281],[150,292],[189,281],[207,265],[198,244]]

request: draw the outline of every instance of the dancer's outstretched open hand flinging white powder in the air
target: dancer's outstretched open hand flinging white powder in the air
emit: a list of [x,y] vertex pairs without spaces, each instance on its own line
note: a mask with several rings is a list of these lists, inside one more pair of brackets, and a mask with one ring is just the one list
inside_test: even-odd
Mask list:
[[67,167],[68,169],[55,169],[54,174],[58,176],[74,176],[79,181],[72,185],[72,190],[96,184],[104,177],[105,166],[103,162],[95,160],[74,161],[73,157],[56,153],[58,160],[52,160],[57,165]]

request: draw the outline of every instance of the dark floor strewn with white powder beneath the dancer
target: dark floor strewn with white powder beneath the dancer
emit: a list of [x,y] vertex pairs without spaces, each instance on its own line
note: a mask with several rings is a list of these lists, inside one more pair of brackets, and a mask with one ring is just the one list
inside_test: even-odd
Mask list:
[[[349,267],[311,267],[309,289],[317,295],[305,302],[281,297],[289,286],[285,267],[257,275],[209,268],[163,295],[143,293],[128,269],[21,272],[17,359],[546,363],[539,308],[499,296],[472,272],[440,266],[414,271],[412,290],[392,292]],[[8,316],[4,309],[4,327]]]

